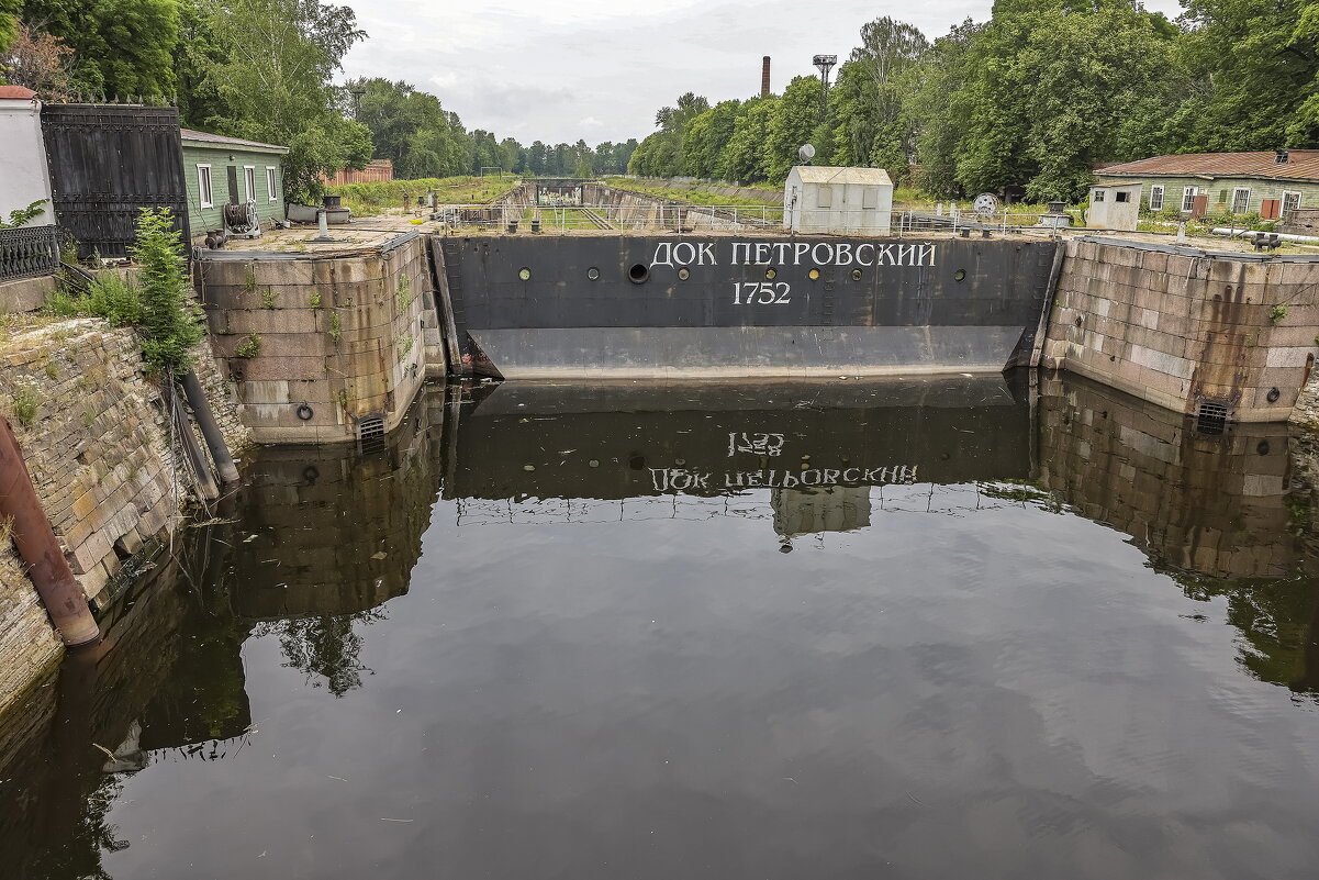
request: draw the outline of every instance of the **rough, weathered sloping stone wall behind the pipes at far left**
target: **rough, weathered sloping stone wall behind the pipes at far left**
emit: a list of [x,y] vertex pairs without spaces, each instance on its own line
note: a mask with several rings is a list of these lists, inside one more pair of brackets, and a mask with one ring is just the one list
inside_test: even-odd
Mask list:
[[[198,379],[231,450],[248,439],[202,344]],[[0,406],[55,536],[88,599],[108,604],[138,557],[168,536],[190,478],[169,441],[158,385],[129,330],[62,321],[0,343]],[[204,446],[203,446],[204,449]],[[0,708],[61,644],[9,541],[0,546]]]

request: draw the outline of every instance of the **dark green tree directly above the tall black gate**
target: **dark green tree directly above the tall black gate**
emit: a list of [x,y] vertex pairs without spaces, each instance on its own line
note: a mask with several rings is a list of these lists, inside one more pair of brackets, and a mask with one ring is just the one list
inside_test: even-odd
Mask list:
[[111,99],[174,94],[179,0],[26,0],[22,20],[73,49],[74,91]]

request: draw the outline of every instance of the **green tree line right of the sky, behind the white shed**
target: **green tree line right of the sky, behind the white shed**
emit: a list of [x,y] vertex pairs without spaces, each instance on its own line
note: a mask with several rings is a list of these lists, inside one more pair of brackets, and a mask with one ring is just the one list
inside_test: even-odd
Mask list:
[[931,194],[1079,198],[1103,164],[1319,145],[1319,0],[997,0],[930,41],[890,17],[861,28],[822,102],[818,77],[656,115],[629,172],[781,182],[815,165],[885,168]]

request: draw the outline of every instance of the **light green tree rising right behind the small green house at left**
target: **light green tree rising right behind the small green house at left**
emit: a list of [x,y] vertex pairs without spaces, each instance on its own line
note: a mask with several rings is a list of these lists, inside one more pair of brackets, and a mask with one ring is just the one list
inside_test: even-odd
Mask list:
[[344,119],[331,77],[367,34],[348,7],[317,0],[210,0],[207,20],[224,46],[206,79],[227,106],[222,133],[289,148],[289,198],[315,199],[321,177],[364,168],[369,129]]

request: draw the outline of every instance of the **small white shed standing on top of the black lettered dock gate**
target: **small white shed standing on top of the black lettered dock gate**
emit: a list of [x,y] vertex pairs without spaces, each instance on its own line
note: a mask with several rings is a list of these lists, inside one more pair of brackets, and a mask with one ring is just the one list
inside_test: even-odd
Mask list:
[[783,226],[793,232],[888,235],[892,212],[882,168],[798,165],[783,183]]

